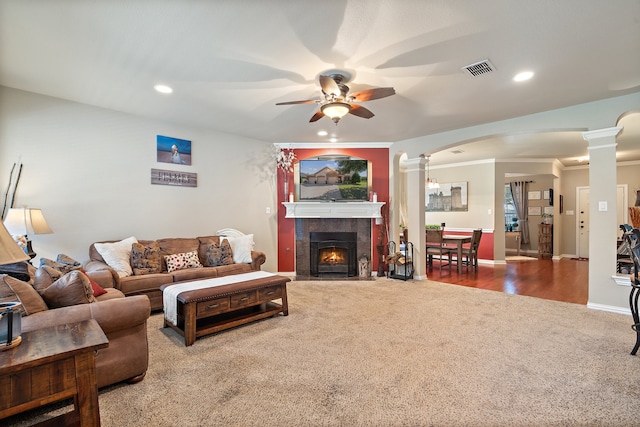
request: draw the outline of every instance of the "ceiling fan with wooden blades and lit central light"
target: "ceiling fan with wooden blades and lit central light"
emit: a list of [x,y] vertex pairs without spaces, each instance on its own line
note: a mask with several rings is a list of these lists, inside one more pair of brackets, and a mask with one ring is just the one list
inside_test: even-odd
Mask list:
[[320,75],[320,87],[322,97],[320,99],[307,99],[304,101],[278,102],[276,105],[296,104],[320,104],[320,109],[311,117],[310,123],[329,117],[337,125],[341,118],[347,114],[370,119],[374,114],[357,102],[371,101],[394,95],[392,87],[378,87],[361,90],[350,94],[349,87],[345,84],[347,79],[344,74]]

